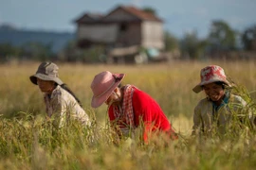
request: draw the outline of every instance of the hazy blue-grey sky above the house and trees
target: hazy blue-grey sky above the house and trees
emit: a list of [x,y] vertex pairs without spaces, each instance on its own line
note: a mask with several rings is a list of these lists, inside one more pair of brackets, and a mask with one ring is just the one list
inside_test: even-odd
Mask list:
[[0,0],[0,25],[75,32],[74,20],[84,12],[107,14],[119,5],[154,8],[177,38],[192,31],[207,37],[213,20],[238,31],[256,25],[256,0]]

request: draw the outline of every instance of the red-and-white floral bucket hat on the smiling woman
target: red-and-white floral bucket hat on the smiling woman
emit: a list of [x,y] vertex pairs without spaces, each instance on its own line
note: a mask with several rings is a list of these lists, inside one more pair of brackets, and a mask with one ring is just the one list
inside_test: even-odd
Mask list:
[[230,87],[230,83],[227,80],[227,77],[225,75],[223,68],[221,68],[218,65],[209,65],[203,68],[201,70],[200,76],[201,76],[201,82],[192,89],[194,93],[201,92],[203,90],[202,89],[203,85],[210,84],[212,82],[217,82],[217,81],[224,82]]

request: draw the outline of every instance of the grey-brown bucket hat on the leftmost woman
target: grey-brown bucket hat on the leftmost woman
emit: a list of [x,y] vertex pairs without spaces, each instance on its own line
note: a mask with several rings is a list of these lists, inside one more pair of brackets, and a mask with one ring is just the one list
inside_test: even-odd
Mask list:
[[53,62],[42,62],[36,74],[30,76],[30,80],[33,84],[37,85],[37,78],[46,80],[46,81],[54,81],[59,85],[64,84],[63,81],[59,78],[58,75],[59,67]]

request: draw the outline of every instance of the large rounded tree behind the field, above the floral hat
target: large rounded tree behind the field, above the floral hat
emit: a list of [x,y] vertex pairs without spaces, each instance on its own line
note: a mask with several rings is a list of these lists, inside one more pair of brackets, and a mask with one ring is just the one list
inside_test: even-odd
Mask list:
[[227,51],[236,48],[236,33],[224,21],[213,21],[210,26],[208,42],[211,51]]

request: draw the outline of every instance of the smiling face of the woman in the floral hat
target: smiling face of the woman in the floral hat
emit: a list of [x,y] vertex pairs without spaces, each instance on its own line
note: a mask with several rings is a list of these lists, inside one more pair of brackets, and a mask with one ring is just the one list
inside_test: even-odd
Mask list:
[[210,97],[213,102],[222,102],[225,91],[222,85],[218,85],[216,83],[206,84],[203,87],[205,93]]

